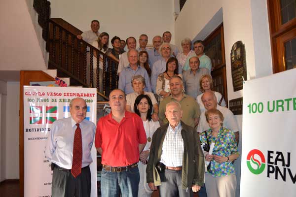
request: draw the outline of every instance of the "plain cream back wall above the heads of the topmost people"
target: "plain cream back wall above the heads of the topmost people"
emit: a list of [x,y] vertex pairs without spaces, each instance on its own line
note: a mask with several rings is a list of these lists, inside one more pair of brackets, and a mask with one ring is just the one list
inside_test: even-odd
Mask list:
[[[90,22],[100,21],[99,32],[121,39],[142,33],[152,44],[154,35],[170,31],[174,35],[173,0],[50,0],[51,18],[63,18],[81,31],[90,30]],[[87,2],[87,3],[86,3]],[[174,38],[172,38],[174,43]]]

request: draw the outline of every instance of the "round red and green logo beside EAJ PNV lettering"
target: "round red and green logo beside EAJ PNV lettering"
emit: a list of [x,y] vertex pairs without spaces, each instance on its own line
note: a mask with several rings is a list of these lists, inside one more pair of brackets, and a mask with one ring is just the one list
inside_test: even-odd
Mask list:
[[[257,160],[254,156],[258,155],[261,162],[259,160]],[[252,165],[256,165],[257,167],[254,168]],[[265,168],[265,157],[263,155],[263,153],[261,151],[259,151],[258,149],[253,149],[249,152],[248,156],[247,156],[247,165],[249,170],[253,173],[253,174],[261,174]]]

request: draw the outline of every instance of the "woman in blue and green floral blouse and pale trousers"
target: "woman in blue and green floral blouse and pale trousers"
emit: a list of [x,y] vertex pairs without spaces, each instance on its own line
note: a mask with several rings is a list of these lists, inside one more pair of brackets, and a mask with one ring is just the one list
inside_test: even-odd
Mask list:
[[202,145],[215,143],[212,155],[205,153],[206,162],[210,162],[205,175],[207,195],[235,197],[236,176],[232,161],[239,157],[235,135],[222,127],[224,117],[219,110],[208,110],[205,115],[210,129],[200,134],[200,142]]

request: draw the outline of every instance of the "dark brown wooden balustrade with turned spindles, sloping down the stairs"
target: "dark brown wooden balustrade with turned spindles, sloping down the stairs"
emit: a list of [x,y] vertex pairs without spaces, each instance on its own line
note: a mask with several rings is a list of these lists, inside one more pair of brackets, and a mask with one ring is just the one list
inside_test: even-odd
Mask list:
[[[65,24],[68,26],[67,29],[63,27]],[[78,83],[77,85],[96,87],[98,94],[108,100],[110,91],[118,86],[116,74],[118,61],[84,40],[78,39],[74,31],[80,33],[80,30],[76,29],[70,32],[70,26],[72,25],[62,19],[49,20],[46,42],[46,48],[49,52],[48,65],[74,79]],[[103,59],[103,65],[99,59],[94,62],[94,54],[98,54]],[[96,72],[93,72],[95,70],[93,69],[94,64],[97,68],[101,64],[103,70],[96,69]]]

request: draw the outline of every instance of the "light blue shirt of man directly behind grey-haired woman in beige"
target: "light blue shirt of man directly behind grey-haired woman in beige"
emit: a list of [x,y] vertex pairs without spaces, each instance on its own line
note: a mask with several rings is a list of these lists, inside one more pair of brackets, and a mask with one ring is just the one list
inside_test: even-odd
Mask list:
[[137,69],[134,70],[128,65],[125,67],[119,75],[118,88],[121,89],[126,95],[133,93],[132,78],[134,75],[142,75],[145,78],[146,86],[144,91],[151,92],[151,84],[149,76],[145,68],[138,65]]

